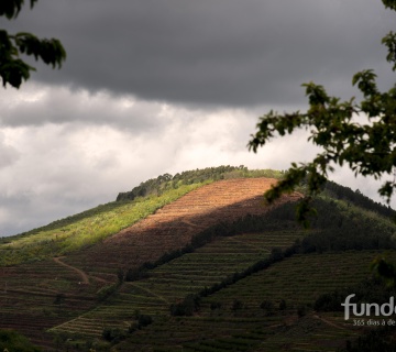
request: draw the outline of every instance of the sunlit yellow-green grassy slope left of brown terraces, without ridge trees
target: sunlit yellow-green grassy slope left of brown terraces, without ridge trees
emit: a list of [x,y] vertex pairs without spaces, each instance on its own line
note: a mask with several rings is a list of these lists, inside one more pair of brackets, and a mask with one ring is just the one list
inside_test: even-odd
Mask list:
[[148,196],[133,201],[109,202],[52,226],[4,238],[2,243],[0,242],[0,266],[84,250],[209,183],[210,180],[183,185],[161,196]]

